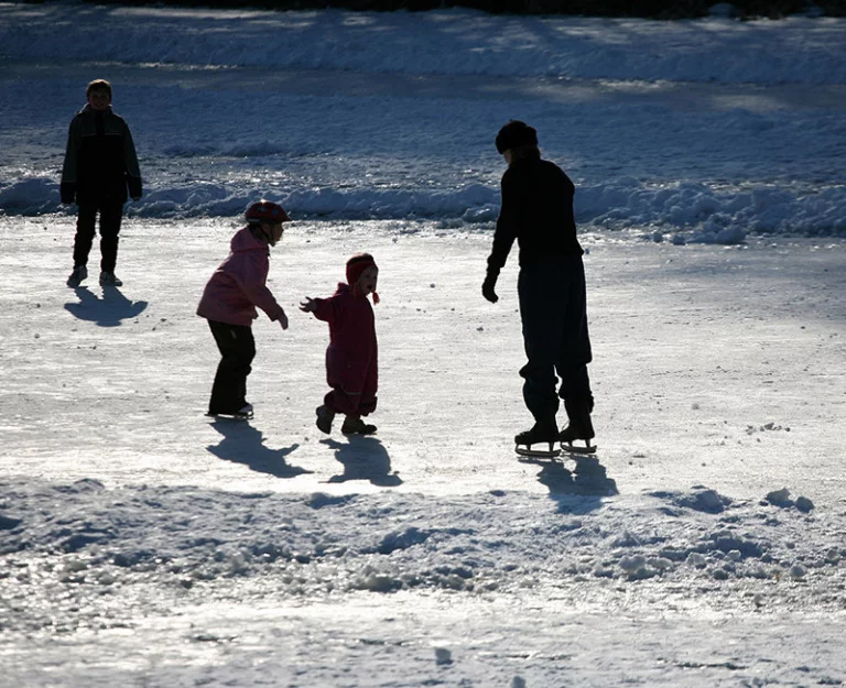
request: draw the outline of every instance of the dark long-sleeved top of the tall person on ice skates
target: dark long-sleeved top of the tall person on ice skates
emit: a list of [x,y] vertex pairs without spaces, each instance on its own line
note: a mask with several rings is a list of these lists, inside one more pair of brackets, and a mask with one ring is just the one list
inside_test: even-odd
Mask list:
[[488,270],[499,273],[517,239],[525,266],[558,255],[582,255],[573,217],[575,186],[555,163],[539,157],[509,165]]

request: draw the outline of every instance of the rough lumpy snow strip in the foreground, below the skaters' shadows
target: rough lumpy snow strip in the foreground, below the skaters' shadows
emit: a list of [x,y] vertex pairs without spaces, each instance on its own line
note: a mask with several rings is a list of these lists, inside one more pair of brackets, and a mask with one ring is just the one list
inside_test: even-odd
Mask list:
[[[736,502],[703,487],[606,501],[614,483],[585,463],[570,478],[576,494],[551,498],[245,494],[6,479],[0,599],[58,599],[70,588],[78,603],[104,587],[131,598],[126,589],[141,583],[192,589],[270,576],[276,597],[312,601],[355,590],[484,593],[606,580],[626,594],[651,581],[661,596],[735,604],[724,589],[759,580],[770,581],[773,603],[839,608],[832,591],[846,582],[846,549],[833,536],[840,529],[827,520],[833,514],[817,521],[791,500]],[[551,465],[551,482],[563,479],[555,470]],[[25,609],[6,623],[44,623],[37,604]]]

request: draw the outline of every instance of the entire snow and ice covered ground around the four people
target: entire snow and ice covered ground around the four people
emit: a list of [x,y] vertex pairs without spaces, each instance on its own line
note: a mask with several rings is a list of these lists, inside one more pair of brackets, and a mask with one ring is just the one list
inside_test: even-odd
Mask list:
[[[0,686],[843,685],[844,29],[0,4]],[[148,193],[68,290],[95,77]],[[578,185],[596,459],[512,452],[509,117]],[[291,328],[213,423],[194,308],[261,194]],[[296,304],[361,249],[379,433],[327,438]]]

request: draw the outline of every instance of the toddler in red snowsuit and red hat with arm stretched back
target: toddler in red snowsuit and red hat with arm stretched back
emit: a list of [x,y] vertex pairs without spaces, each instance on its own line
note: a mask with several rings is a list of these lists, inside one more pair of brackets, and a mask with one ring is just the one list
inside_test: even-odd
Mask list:
[[329,324],[326,349],[326,382],[332,390],[317,407],[317,427],[332,432],[335,415],[346,415],[340,432],[345,435],[372,435],[376,426],[361,419],[376,411],[379,383],[376,320],[368,295],[379,303],[376,292],[379,267],[370,253],[357,253],[347,261],[347,282],[339,283],[329,298],[311,298],[300,305],[318,320]]

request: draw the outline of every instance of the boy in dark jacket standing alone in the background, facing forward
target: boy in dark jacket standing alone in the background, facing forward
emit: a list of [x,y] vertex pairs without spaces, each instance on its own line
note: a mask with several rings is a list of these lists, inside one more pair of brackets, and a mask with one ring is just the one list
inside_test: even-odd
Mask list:
[[100,284],[120,286],[115,276],[118,233],[127,203],[141,198],[141,172],[132,134],[121,117],[111,110],[111,84],[97,79],[88,84],[88,103],[76,114],[67,132],[62,168],[62,203],[79,208],[74,239],[74,271],[68,286],[79,286],[88,276],[88,253],[100,215]]

